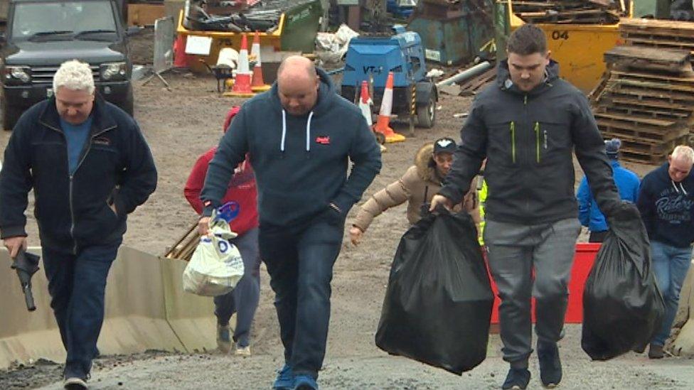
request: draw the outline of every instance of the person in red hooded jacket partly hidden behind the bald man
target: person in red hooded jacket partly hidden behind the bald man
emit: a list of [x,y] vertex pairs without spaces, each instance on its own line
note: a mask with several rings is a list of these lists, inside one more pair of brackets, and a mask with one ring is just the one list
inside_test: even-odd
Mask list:
[[[227,131],[233,117],[239,110],[240,107],[237,106],[229,110],[223,131]],[[198,214],[201,214],[204,208],[203,202],[200,200],[200,193],[205,183],[208,164],[215,155],[215,151],[217,151],[216,147],[210,148],[198,158],[183,191],[186,199]],[[241,253],[245,271],[233,291],[214,298],[215,315],[217,316],[217,346],[225,353],[231,350],[229,320],[236,313],[237,320],[233,340],[235,342],[235,354],[242,356],[250,355],[250,326],[260,299],[260,254],[258,251],[256,198],[255,175],[248,158],[246,158],[237,166],[227,193],[222,200],[222,204],[230,201],[237,202],[240,208],[239,214],[230,223],[231,229],[238,234],[238,237],[231,242]]]

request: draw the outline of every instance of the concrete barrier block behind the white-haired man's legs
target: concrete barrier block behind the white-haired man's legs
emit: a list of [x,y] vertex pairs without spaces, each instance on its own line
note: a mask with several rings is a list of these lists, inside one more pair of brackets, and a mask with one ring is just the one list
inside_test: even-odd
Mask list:
[[[31,251],[41,254],[40,248]],[[43,263],[32,279],[36,303],[32,313],[26,310],[10,264],[7,251],[0,250],[0,368],[39,357],[62,362],[65,350],[50,309]],[[151,254],[120,248],[107,280],[106,318],[98,342],[102,354],[186,350],[167,321],[161,264]]]

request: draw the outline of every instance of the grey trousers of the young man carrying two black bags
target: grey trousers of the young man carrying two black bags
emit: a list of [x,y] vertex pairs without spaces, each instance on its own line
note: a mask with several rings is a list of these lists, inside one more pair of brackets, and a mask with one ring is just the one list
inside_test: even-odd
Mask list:
[[512,367],[528,367],[533,352],[531,296],[535,297],[538,340],[560,339],[580,229],[575,218],[535,225],[486,221],[484,244],[501,298],[503,359]]

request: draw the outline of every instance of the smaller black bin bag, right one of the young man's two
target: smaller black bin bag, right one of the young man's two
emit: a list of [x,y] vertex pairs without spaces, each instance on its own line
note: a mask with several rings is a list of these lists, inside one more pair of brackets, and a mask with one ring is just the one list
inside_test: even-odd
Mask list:
[[644,352],[664,313],[646,228],[639,210],[623,203],[585,283],[581,347],[594,360]]

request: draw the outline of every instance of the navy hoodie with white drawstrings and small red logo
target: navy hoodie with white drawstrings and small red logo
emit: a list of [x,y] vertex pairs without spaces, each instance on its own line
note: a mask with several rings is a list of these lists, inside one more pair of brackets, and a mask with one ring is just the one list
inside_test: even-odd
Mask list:
[[380,148],[359,109],[335,93],[326,72],[317,71],[318,101],[305,116],[284,112],[277,82],[243,104],[210,161],[201,193],[203,215],[219,206],[247,152],[258,183],[261,225],[305,222],[330,202],[344,217],[361,199],[380,171]]

